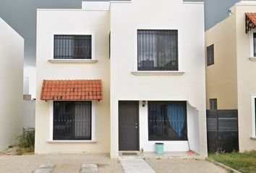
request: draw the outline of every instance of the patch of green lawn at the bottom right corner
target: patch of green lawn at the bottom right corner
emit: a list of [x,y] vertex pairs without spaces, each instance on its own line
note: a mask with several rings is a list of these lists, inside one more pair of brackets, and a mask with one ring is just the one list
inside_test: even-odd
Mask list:
[[209,158],[236,169],[239,172],[256,173],[256,151],[248,151],[242,154],[210,154]]

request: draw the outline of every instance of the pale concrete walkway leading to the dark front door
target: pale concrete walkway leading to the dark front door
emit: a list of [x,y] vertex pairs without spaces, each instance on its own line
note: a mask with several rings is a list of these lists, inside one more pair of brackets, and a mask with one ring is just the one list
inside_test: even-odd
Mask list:
[[124,158],[119,159],[121,167],[124,169],[124,173],[155,173],[155,171],[147,164],[144,159],[139,158]]

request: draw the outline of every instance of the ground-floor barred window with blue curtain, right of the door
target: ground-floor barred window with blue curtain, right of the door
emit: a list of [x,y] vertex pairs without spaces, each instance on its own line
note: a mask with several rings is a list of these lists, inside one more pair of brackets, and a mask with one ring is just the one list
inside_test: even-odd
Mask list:
[[187,140],[187,102],[148,102],[149,141]]

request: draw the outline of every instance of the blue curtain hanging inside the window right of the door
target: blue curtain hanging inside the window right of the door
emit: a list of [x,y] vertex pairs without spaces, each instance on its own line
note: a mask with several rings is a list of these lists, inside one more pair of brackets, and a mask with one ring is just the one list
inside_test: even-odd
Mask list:
[[186,123],[186,105],[182,102],[169,103],[167,105],[167,115],[171,127],[176,131],[179,137],[182,136],[182,130]]

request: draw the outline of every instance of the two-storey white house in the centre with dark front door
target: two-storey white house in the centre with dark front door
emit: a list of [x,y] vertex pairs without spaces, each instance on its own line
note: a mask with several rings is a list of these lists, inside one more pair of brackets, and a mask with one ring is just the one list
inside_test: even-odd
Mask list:
[[203,3],[86,1],[37,28],[36,154],[207,156]]

